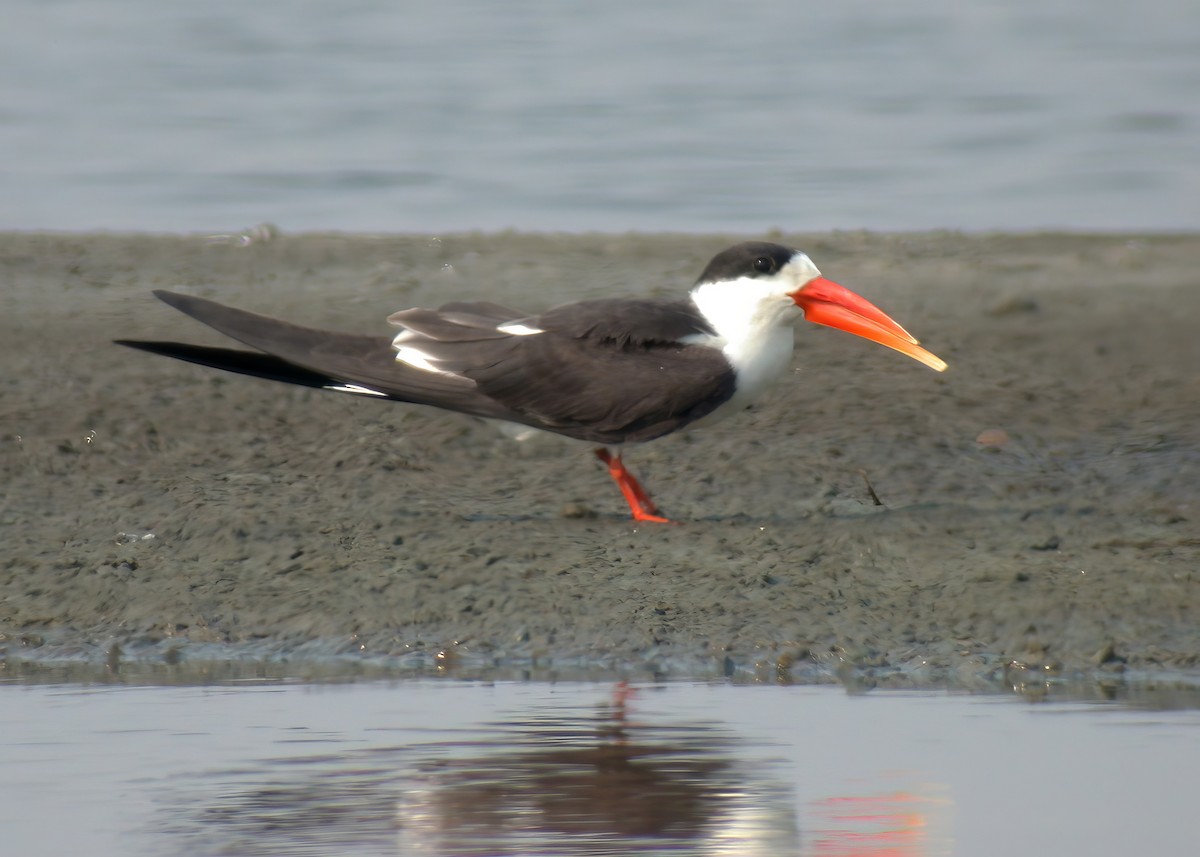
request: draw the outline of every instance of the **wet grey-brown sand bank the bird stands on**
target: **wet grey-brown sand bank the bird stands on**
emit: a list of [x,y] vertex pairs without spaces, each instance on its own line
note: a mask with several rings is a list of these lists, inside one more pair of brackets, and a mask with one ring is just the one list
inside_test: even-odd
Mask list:
[[228,344],[163,287],[358,332],[462,296],[674,294],[736,236],[0,234],[0,646],[1200,666],[1200,239],[774,238],[950,368],[802,323],[755,412],[628,451],[666,527],[583,445],[109,341]]

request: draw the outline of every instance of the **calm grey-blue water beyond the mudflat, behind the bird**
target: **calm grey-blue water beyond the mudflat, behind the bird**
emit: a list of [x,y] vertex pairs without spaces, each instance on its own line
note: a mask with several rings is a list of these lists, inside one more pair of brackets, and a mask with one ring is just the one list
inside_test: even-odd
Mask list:
[[1192,0],[8,0],[0,228],[1200,228]]

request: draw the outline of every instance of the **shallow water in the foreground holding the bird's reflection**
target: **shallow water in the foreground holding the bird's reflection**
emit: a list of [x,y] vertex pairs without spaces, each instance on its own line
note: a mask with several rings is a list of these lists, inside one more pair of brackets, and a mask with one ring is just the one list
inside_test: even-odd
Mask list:
[[[1183,853],[1194,693],[0,685],[6,850]],[[1182,707],[1177,707],[1182,706]]]

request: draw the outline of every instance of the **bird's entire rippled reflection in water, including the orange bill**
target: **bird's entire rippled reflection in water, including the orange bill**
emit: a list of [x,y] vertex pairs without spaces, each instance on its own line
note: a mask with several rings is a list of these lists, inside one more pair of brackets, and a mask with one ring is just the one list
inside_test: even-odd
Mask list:
[[656,690],[637,693],[469,729],[397,724],[390,744],[205,772],[164,792],[161,820],[198,857],[949,853],[952,804],[916,772],[804,789],[780,748],[646,713]]

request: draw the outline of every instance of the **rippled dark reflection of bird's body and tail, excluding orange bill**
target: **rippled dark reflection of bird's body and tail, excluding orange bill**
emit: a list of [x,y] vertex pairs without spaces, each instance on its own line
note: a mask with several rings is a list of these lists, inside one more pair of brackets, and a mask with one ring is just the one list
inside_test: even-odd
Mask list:
[[776,767],[720,726],[617,705],[208,774],[215,793],[175,796],[169,826],[205,853],[790,855]]

